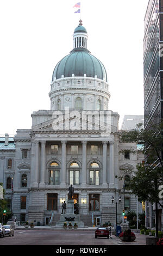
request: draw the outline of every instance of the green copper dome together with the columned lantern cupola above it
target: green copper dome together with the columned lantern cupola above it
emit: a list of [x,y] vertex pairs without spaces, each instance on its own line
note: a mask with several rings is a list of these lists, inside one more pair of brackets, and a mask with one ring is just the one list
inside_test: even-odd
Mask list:
[[82,20],[79,21],[73,34],[74,48],[55,66],[52,81],[64,77],[84,76],[95,77],[107,81],[104,65],[87,50],[87,32],[83,27]]

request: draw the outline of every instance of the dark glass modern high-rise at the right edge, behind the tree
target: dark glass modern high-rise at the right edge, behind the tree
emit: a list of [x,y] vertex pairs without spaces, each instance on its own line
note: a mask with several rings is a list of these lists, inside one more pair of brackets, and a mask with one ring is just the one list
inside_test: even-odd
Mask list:
[[[144,118],[145,129],[153,129],[163,120],[163,1],[149,0],[145,15],[144,46]],[[163,159],[163,152],[159,151]],[[158,156],[153,151],[154,166],[160,165]],[[145,161],[147,156],[145,154]],[[158,206],[159,207],[159,206]],[[161,221],[162,219],[162,221]],[[159,229],[163,222],[162,209],[158,209]],[[146,204],[146,226],[155,225],[155,205]]]

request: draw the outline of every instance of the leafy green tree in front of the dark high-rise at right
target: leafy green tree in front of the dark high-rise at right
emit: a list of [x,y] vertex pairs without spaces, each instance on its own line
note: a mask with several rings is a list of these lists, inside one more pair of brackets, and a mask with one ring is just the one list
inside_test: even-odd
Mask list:
[[[156,236],[158,236],[158,204],[163,208],[159,198],[159,187],[163,185],[163,123],[159,126],[151,126],[150,130],[143,129],[142,124],[138,124],[134,130],[122,131],[121,142],[143,145],[141,150],[130,149],[130,153],[145,154],[145,163],[137,164],[136,171],[130,170],[132,176],[128,189],[140,202],[155,203]],[[123,153],[123,150],[121,152]]]

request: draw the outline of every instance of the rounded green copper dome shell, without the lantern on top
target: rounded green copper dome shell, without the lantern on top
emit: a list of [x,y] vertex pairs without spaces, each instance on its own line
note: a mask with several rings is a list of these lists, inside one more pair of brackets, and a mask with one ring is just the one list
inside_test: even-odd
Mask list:
[[52,81],[64,77],[84,76],[95,77],[107,81],[107,74],[104,65],[87,49],[74,48],[70,54],[60,60],[53,71]]

